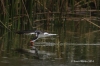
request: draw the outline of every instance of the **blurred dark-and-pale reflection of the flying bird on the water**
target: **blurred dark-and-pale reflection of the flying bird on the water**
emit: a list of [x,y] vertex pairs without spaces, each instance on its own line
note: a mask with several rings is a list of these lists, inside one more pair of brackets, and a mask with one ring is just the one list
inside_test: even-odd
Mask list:
[[25,55],[26,57],[33,57],[34,59],[50,59],[53,56],[56,56],[55,53],[51,53],[51,52],[46,52],[46,51],[35,51],[35,50],[31,50],[31,49],[16,49],[16,52]]

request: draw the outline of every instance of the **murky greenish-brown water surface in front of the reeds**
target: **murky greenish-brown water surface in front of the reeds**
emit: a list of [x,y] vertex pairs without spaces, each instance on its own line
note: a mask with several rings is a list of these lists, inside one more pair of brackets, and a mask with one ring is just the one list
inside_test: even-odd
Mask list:
[[[59,30],[60,31],[60,30]],[[98,66],[100,61],[100,32],[72,35],[53,31],[57,36],[35,42],[39,58],[30,51],[31,36],[8,32],[0,42],[0,66]],[[2,37],[1,35],[1,37]],[[89,36],[90,35],[90,36]],[[84,37],[83,37],[84,36]],[[9,38],[10,37],[10,38]],[[16,49],[30,52],[18,52]]]

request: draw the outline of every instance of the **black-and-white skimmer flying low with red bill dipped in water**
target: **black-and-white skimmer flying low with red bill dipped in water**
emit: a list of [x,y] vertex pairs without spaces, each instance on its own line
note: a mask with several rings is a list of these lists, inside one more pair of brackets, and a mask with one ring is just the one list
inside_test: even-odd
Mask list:
[[[35,34],[36,36],[30,41],[31,43],[31,50],[22,50],[22,51],[25,51],[25,52],[29,52],[29,53],[35,53],[38,57],[38,49],[36,47],[34,47],[34,42],[39,39],[39,38],[43,38],[43,37],[49,37],[49,36],[54,36],[54,35],[57,35],[57,34],[51,34],[51,33],[47,33],[47,32],[41,32],[39,30],[36,30],[36,31],[18,31],[16,32],[17,34],[26,34],[26,35],[32,35],[32,34]],[[20,50],[19,50],[20,51]]]

